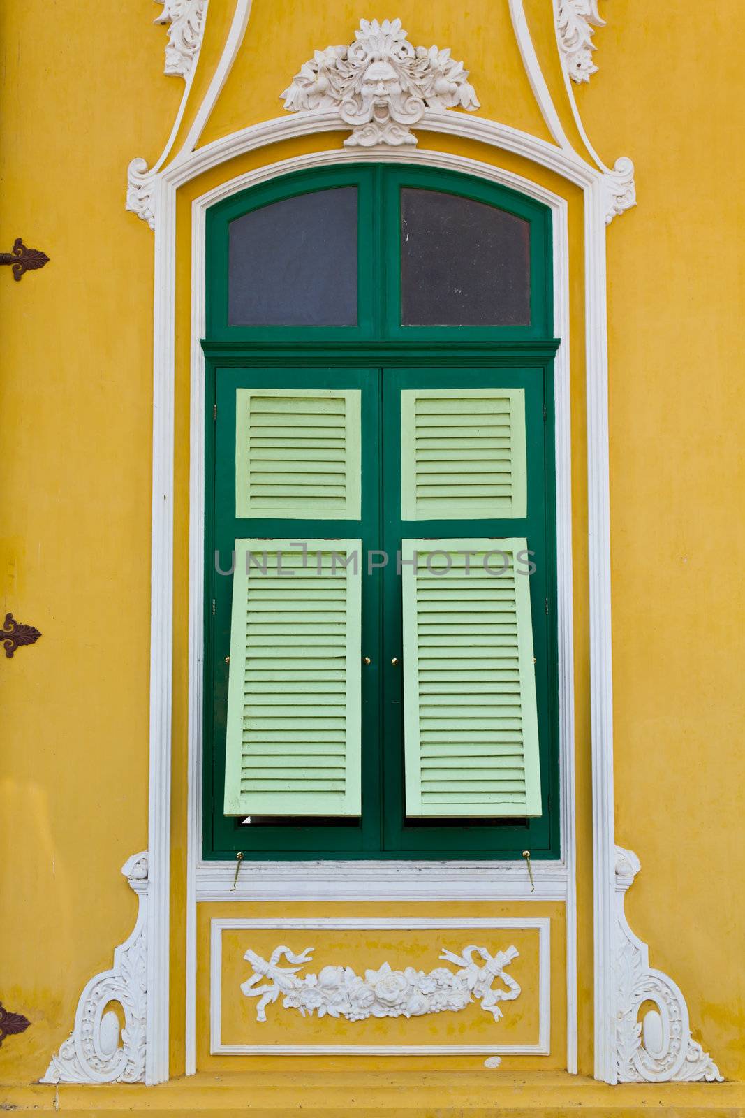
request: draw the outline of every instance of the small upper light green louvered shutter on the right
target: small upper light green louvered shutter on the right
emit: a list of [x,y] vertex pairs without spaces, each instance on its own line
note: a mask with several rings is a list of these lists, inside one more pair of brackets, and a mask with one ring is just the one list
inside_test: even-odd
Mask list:
[[524,390],[402,391],[402,519],[525,515]]

